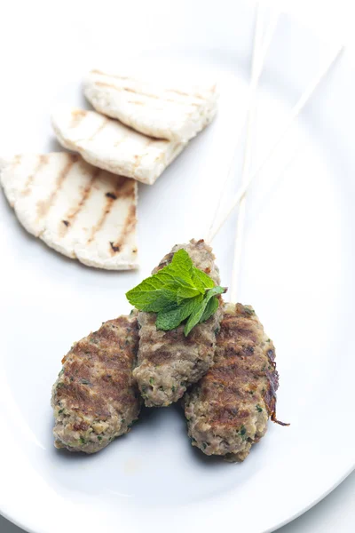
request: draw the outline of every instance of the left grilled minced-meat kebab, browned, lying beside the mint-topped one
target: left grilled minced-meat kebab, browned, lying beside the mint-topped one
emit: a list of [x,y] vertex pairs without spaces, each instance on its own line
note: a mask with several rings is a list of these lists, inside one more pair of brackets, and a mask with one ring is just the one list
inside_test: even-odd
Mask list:
[[140,410],[132,376],[137,350],[134,314],[105,322],[75,343],[52,390],[57,448],[93,453],[130,431]]

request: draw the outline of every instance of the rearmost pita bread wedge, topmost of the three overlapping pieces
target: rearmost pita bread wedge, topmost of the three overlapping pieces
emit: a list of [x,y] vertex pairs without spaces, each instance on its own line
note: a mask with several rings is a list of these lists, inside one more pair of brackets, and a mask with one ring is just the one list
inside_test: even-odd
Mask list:
[[212,121],[217,111],[215,83],[164,83],[153,76],[127,76],[124,68],[115,74],[91,70],[83,91],[100,113],[158,139],[185,142]]

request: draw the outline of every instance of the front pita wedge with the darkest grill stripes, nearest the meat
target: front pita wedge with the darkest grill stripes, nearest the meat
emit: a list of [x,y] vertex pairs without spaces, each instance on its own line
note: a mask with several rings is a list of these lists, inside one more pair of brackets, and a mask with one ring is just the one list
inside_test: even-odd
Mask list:
[[79,155],[16,155],[2,163],[4,193],[28,232],[90,267],[137,268],[137,182]]

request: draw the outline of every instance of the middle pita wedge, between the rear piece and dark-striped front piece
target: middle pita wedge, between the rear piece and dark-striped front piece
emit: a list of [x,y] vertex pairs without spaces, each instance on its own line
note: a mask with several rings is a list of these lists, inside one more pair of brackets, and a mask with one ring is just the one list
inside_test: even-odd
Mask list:
[[60,144],[100,169],[152,185],[185,146],[133,131],[95,111],[60,107],[51,117]]

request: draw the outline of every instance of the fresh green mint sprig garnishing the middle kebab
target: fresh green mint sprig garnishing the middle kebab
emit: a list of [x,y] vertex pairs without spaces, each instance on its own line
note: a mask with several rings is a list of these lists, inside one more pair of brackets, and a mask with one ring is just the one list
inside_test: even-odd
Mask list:
[[185,322],[187,336],[218,308],[224,287],[215,286],[208,274],[193,266],[185,250],[177,251],[169,265],[129,290],[126,297],[140,311],[156,313],[158,330],[174,330]]

